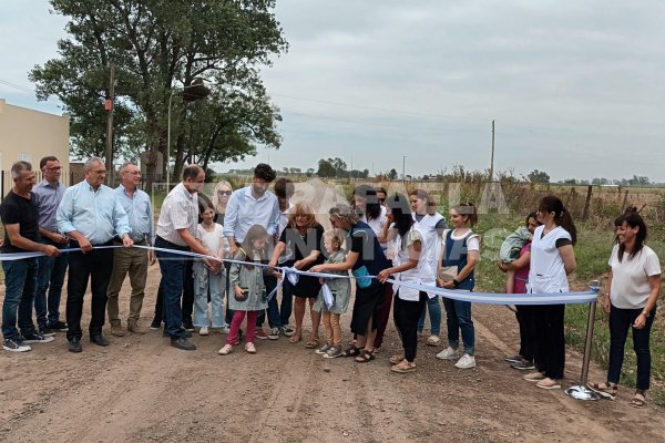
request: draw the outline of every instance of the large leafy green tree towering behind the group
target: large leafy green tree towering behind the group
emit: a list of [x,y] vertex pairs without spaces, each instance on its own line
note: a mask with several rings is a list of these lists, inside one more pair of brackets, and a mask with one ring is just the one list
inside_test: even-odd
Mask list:
[[[117,79],[115,154],[137,157],[149,152],[149,181],[157,153],[165,156],[171,151],[177,176],[185,162],[207,166],[253,155],[257,145],[279,147],[275,122],[280,117],[258,71],[270,64],[270,55],[287,48],[272,13],[275,0],[51,0],[51,4],[70,18],[70,38],[58,42],[60,58],[35,66],[30,79],[37,83],[38,99],[55,95],[71,114],[76,155],[99,155],[103,146],[102,103],[109,96],[112,65]],[[196,78],[215,84],[217,93],[187,104],[182,92]],[[167,150],[170,101],[175,146]]]

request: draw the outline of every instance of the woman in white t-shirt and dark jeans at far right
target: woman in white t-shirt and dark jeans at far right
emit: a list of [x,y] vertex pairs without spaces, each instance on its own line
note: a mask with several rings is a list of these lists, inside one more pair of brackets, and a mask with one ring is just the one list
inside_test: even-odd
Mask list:
[[628,329],[633,330],[633,348],[637,358],[637,383],[631,405],[644,406],[645,393],[651,379],[651,328],[656,315],[656,301],[661,291],[661,262],[656,253],[644,244],[646,225],[628,208],[616,225],[616,245],[608,265],[612,267],[604,298],[605,312],[610,316],[610,362],[607,380],[590,383],[589,388],[605,399],[614,400],[618,389],[624,347]]

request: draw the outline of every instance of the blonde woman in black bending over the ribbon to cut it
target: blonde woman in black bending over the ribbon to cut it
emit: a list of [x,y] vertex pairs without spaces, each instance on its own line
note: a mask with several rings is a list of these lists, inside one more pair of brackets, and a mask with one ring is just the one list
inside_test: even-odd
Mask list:
[[[282,231],[279,243],[275,246],[273,258],[268,266],[277,266],[279,256],[288,248],[293,254],[293,259],[287,261],[286,266],[293,266],[296,269],[308,270],[311,266],[324,262],[321,254],[321,239],[324,237],[324,227],[316,220],[309,205],[297,203],[289,212],[288,224]],[[303,340],[303,318],[305,317],[305,303],[309,300],[309,316],[311,318],[311,336],[307,340],[306,348],[314,349],[319,346],[318,328],[321,320],[320,312],[311,309],[316,302],[321,285],[317,277],[303,276],[298,278],[296,285],[286,279],[287,293],[295,296],[294,313],[296,318],[296,332],[289,338],[291,343]]]

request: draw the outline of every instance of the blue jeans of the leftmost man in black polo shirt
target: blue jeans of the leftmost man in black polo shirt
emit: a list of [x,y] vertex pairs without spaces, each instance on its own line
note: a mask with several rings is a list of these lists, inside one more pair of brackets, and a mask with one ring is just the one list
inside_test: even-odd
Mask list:
[[32,323],[32,302],[37,288],[37,258],[2,261],[4,270],[4,301],[2,302],[2,337],[19,340],[17,317],[21,333],[35,332]]

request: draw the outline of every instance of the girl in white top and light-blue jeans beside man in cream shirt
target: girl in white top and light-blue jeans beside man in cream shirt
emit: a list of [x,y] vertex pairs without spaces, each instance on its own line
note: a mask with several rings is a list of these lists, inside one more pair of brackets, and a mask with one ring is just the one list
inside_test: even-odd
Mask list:
[[[198,224],[198,236],[201,243],[207,249],[208,255],[221,258],[224,254],[223,227],[214,222],[215,209],[212,203],[206,202],[201,213],[202,222]],[[226,270],[224,267],[214,274],[202,260],[194,261],[194,326],[200,328],[200,336],[208,334],[208,291],[212,302],[212,327],[223,330],[226,328],[224,321],[223,297],[226,289]]]

